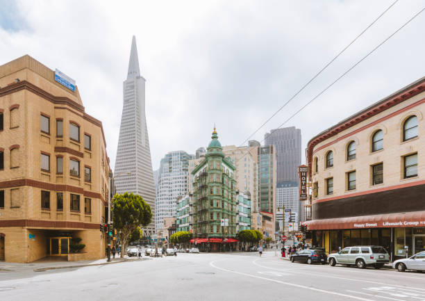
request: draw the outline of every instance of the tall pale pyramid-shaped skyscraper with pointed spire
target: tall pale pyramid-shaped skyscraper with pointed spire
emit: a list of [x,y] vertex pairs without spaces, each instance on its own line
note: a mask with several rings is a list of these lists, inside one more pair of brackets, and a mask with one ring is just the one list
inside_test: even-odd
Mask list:
[[[151,237],[155,226],[155,184],[151,161],[151,149],[147,131],[146,113],[144,111],[144,84],[140,76],[138,49],[135,36],[131,41],[130,62],[127,79],[123,85],[121,126],[117,159],[115,161],[115,186],[117,193],[135,193],[151,206],[152,222],[144,229],[144,236]],[[128,174],[131,172],[131,174]]]

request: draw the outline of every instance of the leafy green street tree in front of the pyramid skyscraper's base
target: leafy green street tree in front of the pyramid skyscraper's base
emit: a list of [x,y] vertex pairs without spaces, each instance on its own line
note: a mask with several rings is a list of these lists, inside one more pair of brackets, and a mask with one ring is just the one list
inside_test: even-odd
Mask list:
[[152,219],[151,206],[140,195],[124,193],[113,198],[114,227],[121,241],[121,257],[124,258],[128,239],[138,227],[146,227]]

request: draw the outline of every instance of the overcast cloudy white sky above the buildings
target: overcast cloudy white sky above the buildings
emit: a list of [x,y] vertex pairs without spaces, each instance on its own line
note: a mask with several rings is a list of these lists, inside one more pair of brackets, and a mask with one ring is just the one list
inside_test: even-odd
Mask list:
[[[240,145],[394,0],[0,0],[0,64],[29,54],[76,80],[115,165],[131,37],[147,79],[153,168],[167,152]],[[108,3],[110,2],[110,3]],[[400,0],[253,137],[283,120],[415,15]],[[310,138],[425,75],[425,13],[285,126]],[[303,161],[304,153],[302,154]]]

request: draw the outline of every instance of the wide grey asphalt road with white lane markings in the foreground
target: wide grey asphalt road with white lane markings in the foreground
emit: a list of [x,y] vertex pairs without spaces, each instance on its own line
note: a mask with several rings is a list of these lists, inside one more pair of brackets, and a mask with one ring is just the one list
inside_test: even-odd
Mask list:
[[425,272],[291,263],[266,252],[1,272],[0,300],[422,300]]

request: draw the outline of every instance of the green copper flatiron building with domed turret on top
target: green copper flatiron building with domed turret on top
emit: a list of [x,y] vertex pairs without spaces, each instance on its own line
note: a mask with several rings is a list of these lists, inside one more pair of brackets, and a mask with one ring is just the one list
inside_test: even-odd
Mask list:
[[[200,243],[207,242],[202,238],[209,238],[208,243],[220,243],[222,238],[235,238],[237,234],[235,165],[224,158],[215,128],[211,138],[205,158],[192,171],[193,236],[201,238]],[[228,224],[222,226],[222,220],[228,220]]]

